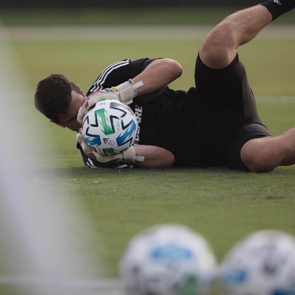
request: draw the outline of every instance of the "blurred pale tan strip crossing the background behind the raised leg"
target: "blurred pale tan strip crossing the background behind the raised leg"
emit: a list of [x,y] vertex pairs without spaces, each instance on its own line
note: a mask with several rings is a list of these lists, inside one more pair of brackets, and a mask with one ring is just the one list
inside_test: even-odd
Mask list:
[[[9,40],[197,40],[214,26],[45,26],[5,27]],[[264,40],[295,39],[295,25],[266,27],[256,37]],[[0,32],[0,40],[3,34]]]

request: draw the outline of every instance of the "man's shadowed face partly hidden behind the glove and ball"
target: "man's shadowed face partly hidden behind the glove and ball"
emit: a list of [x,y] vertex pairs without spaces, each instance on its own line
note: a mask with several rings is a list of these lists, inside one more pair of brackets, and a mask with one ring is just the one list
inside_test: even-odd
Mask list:
[[[81,89],[80,89],[81,90]],[[61,127],[67,127],[71,130],[78,131],[81,128],[81,124],[77,121],[77,114],[86,99],[86,95],[81,90],[80,92],[71,92],[71,103],[69,109],[65,113],[58,114],[59,122],[54,122]]]

